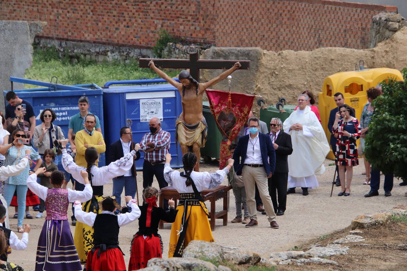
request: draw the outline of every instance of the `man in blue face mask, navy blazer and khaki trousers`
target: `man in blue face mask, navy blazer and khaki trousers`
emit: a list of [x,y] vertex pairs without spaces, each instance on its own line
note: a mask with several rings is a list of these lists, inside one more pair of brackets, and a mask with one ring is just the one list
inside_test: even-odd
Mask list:
[[254,184],[257,184],[270,226],[273,229],[278,229],[276,214],[274,213],[273,202],[271,202],[267,184],[267,178],[271,178],[276,165],[276,152],[269,135],[258,132],[260,127],[259,119],[251,117],[247,123],[250,135],[247,134],[239,139],[233,153],[233,167],[237,175],[243,176],[243,183],[245,184],[246,202],[250,216],[250,221],[246,224],[246,227],[251,228],[258,225],[256,201],[254,199]]

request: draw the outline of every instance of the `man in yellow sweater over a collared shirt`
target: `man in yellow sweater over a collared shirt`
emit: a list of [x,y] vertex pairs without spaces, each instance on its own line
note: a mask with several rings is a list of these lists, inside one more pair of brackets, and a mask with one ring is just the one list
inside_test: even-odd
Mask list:
[[[81,167],[86,167],[88,163],[85,160],[85,150],[88,147],[94,147],[101,154],[106,151],[106,144],[103,140],[101,132],[93,130],[96,125],[96,117],[93,114],[88,114],[85,117],[85,129],[76,133],[75,144],[77,148],[77,156],[75,163]],[[96,160],[96,166],[98,165]]]

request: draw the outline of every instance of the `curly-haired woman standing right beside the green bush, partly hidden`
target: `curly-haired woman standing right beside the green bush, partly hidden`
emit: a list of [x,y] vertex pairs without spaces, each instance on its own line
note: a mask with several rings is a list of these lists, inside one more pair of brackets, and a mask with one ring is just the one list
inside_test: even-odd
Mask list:
[[[360,148],[360,153],[359,155],[362,156],[365,153],[365,136],[366,134],[369,133],[369,124],[370,121],[372,121],[372,116],[374,112],[374,107],[372,106],[372,101],[379,97],[381,95],[381,90],[377,89],[375,87],[372,87],[366,91],[368,94],[368,103],[363,106],[362,114],[360,116],[360,128],[361,128],[361,134],[360,134],[360,142],[359,142],[359,148]],[[363,184],[370,184],[370,163],[366,159],[364,159],[365,162],[365,174],[366,174],[366,180]],[[362,173],[363,174],[363,173]]]

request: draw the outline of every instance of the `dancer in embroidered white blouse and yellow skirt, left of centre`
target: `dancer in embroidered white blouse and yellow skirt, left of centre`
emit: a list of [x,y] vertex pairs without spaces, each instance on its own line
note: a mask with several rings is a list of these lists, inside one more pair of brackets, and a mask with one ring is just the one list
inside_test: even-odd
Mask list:
[[[84,212],[94,212],[100,214],[98,202],[103,200],[103,185],[108,184],[113,178],[124,175],[133,166],[133,159],[136,152],[140,149],[140,145],[136,144],[134,150],[116,160],[105,167],[97,167],[95,164],[99,157],[98,152],[94,147],[88,147],[85,151],[85,160],[88,163],[87,168],[78,166],[73,161],[72,156],[66,152],[67,140],[61,140],[62,149],[62,166],[68,173],[72,174],[72,178],[80,183],[84,183],[81,177],[81,170],[86,170],[89,175],[89,181],[92,185],[93,196],[83,204]],[[84,223],[77,222],[75,226],[74,243],[78,251],[81,264],[86,264],[88,252],[93,248],[93,228]]]

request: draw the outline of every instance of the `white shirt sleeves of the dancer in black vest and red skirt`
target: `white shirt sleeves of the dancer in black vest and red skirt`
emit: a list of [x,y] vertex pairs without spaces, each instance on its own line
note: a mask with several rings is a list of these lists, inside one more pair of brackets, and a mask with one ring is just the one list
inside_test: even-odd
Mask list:
[[[133,222],[134,220],[138,219],[141,215],[140,208],[138,208],[137,201],[135,199],[132,199],[129,203],[127,203],[127,206],[131,208],[131,212],[117,215],[117,223],[119,224],[119,227],[125,226]],[[93,227],[93,224],[95,223],[96,219],[96,214],[94,212],[83,212],[82,204],[80,202],[75,202],[74,208],[75,208],[75,218],[79,222],[85,223],[86,225]],[[116,215],[113,212],[109,211],[102,211],[102,214]]]

